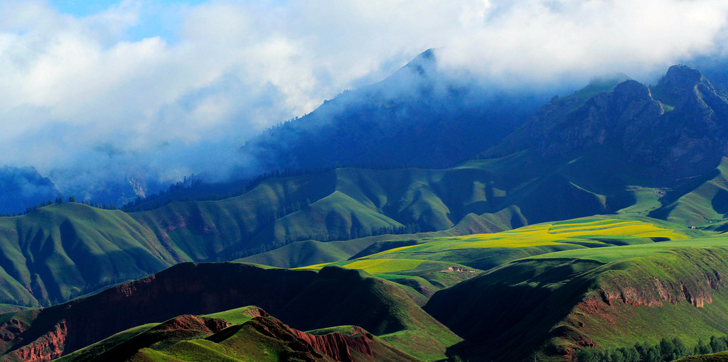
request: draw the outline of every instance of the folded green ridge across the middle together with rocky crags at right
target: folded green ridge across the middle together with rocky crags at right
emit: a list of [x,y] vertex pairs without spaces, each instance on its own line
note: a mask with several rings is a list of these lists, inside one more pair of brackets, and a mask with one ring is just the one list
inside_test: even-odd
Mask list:
[[[644,85],[618,80],[595,81],[547,103],[487,151],[514,152],[500,158],[449,169],[272,177],[241,196],[148,212],[66,203],[0,218],[0,278],[9,286],[0,302],[48,306],[176,262],[235,260],[278,248],[285,249],[248,261],[335,262],[391,233],[457,236],[614,213],[723,230],[728,164],[718,145],[724,136],[720,128],[708,131],[726,123],[727,102],[690,68],[670,68],[653,87],[662,101]],[[700,132],[715,140],[700,141]]]

